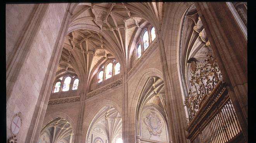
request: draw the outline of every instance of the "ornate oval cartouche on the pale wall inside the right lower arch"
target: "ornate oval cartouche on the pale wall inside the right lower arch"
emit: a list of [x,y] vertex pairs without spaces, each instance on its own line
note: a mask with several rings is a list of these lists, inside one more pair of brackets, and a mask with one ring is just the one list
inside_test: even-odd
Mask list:
[[150,109],[149,114],[147,114],[146,118],[144,118],[144,123],[147,125],[147,130],[149,130],[150,137],[157,136],[159,137],[162,133],[163,123],[160,118],[156,114],[156,110],[154,107]]

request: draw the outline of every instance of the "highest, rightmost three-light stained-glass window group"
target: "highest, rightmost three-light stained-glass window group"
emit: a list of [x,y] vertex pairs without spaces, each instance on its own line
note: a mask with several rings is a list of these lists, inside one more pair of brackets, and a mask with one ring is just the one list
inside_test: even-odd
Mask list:
[[[138,40],[136,44],[136,57],[139,59],[145,50],[149,47],[149,45],[154,41],[156,38],[155,28],[150,26],[143,30],[140,35],[140,40]],[[142,50],[143,49],[143,50]]]

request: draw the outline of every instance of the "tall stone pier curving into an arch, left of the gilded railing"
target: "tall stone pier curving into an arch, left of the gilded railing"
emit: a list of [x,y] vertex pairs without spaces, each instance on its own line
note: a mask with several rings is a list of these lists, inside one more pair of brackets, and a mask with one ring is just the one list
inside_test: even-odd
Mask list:
[[[186,113],[182,99],[182,85],[179,80],[178,66],[178,48],[180,45],[180,37],[182,31],[182,21],[187,8],[192,5],[192,2],[167,3],[164,15],[164,23],[160,31],[159,39],[162,41],[159,44],[161,57],[166,57],[164,60],[164,74],[166,75],[166,103],[168,104],[168,113],[170,114],[169,131],[173,142],[188,142],[185,138],[186,128]],[[157,33],[156,33],[157,34]],[[165,35],[173,35],[167,37]]]

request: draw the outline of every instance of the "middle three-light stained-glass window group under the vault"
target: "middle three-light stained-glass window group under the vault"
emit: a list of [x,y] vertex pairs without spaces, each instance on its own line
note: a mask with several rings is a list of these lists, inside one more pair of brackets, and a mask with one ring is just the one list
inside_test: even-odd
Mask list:
[[120,73],[120,64],[115,59],[112,61],[107,61],[104,66],[98,71],[97,74],[97,83],[100,83],[106,79]]

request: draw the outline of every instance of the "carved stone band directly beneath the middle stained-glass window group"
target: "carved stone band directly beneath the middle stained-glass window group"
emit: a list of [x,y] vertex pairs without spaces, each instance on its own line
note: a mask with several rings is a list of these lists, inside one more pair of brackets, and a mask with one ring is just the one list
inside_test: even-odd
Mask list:
[[96,90],[94,90],[94,91],[92,91],[90,93],[87,93],[85,99],[91,98],[92,96],[95,96],[95,95],[100,94],[100,93],[102,93],[104,91],[107,91],[108,89],[116,87],[116,86],[118,86],[118,85],[120,85],[122,83],[123,83],[123,79],[121,78],[121,79],[119,79],[119,80],[117,80],[115,82],[107,84],[106,86],[100,87],[99,89],[96,89]]

